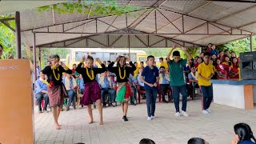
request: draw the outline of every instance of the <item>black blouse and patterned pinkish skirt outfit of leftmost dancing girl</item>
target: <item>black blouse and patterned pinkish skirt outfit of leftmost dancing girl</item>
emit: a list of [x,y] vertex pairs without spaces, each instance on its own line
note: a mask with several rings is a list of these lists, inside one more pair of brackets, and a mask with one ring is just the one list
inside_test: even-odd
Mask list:
[[47,75],[47,81],[50,84],[48,86],[50,106],[62,106],[64,98],[68,98],[66,88],[62,83],[62,73],[72,74],[72,70],[67,67],[64,69],[62,66],[54,67],[53,69],[50,66],[46,66],[42,73]]

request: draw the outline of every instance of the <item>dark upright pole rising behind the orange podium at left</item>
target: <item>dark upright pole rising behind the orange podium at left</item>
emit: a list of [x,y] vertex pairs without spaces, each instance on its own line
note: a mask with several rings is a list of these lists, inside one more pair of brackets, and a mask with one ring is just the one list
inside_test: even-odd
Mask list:
[[18,11],[15,12],[15,31],[16,31],[17,58],[22,58],[21,22],[20,22],[20,14]]

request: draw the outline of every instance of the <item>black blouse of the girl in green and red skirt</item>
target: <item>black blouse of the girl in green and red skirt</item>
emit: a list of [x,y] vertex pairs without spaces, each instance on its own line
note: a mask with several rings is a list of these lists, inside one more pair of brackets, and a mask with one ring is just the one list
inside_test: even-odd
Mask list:
[[117,67],[113,67],[113,66],[114,66],[114,62],[111,62],[107,68],[108,70],[110,70],[111,73],[116,74],[117,82],[128,82],[128,78],[130,74],[132,74],[136,70],[136,66],[134,66],[133,62],[130,62],[131,67],[127,67],[127,66],[120,67],[122,77],[124,76],[124,71],[126,70],[126,77],[124,79],[121,79],[119,75],[119,66]]

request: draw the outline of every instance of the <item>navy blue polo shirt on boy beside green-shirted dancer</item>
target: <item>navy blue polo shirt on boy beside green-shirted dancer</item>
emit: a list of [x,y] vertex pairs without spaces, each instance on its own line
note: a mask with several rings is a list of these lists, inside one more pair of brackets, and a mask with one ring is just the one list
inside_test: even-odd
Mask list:
[[[154,84],[157,82],[157,77],[159,76],[158,68],[156,66],[150,69],[150,66],[146,66],[142,71],[142,77],[148,83]],[[145,89],[158,90],[158,87],[150,87],[145,83]]]

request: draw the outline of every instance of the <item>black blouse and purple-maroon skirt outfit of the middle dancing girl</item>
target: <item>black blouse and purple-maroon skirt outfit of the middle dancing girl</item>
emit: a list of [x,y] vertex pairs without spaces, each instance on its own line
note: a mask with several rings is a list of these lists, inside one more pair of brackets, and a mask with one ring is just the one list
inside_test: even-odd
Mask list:
[[82,106],[87,106],[102,98],[101,89],[96,81],[96,75],[105,72],[106,66],[102,64],[102,68],[82,68],[82,63],[83,62],[80,62],[78,64],[76,71],[79,74],[82,74],[82,78],[85,83],[85,90],[80,103]]

